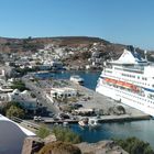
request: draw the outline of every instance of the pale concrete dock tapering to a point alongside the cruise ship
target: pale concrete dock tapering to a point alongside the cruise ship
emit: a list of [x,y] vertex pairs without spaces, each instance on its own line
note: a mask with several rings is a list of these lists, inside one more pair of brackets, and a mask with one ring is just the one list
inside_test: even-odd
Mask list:
[[[91,89],[88,89],[84,86],[72,84],[73,88],[76,88],[84,97],[79,100],[79,103],[82,105],[84,108],[91,109],[102,109],[105,112],[109,110],[111,107],[122,106],[125,109],[125,114],[121,116],[107,116],[114,119],[147,119],[148,114],[127,106],[122,102],[118,102],[111,98],[108,98],[103,95],[100,95]],[[103,116],[105,118],[106,116]],[[106,118],[105,118],[106,119]]]

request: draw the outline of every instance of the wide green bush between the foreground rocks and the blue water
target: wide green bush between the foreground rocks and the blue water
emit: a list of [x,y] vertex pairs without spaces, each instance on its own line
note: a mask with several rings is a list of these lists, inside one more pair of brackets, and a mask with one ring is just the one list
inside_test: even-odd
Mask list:
[[79,143],[81,138],[68,128],[54,127],[52,131],[58,141],[68,143]]

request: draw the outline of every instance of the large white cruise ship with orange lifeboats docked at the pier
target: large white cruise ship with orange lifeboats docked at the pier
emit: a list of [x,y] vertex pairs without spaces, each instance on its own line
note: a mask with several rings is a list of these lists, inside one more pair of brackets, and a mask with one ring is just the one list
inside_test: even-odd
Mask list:
[[96,91],[154,117],[154,65],[134,50],[106,62]]

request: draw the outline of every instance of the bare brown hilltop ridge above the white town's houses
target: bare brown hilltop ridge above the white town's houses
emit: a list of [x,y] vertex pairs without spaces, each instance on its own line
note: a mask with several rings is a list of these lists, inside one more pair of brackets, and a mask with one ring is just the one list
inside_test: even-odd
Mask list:
[[35,37],[28,38],[7,38],[0,37],[0,51],[1,52],[26,52],[29,50],[36,51],[42,48],[46,44],[54,44],[58,46],[87,46],[90,47],[94,43],[101,43],[103,45],[103,52],[114,51],[120,52],[125,45],[113,44],[99,37],[87,36],[66,36],[66,37]]

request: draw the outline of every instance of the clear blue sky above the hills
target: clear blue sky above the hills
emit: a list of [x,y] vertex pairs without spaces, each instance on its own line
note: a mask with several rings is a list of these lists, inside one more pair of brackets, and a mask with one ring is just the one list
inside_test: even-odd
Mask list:
[[0,36],[95,36],[154,50],[154,0],[0,0]]

